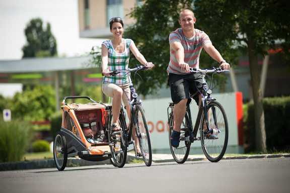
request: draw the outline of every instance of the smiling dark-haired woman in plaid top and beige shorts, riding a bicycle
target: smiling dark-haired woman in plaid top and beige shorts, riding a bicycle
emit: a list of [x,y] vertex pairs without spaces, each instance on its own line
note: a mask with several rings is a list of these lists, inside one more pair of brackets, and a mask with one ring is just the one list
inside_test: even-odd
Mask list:
[[[134,54],[136,59],[143,65],[154,67],[152,62],[147,62],[144,56],[136,48],[131,39],[123,39],[124,24],[121,18],[112,18],[109,20],[110,32],[113,34],[112,40],[107,40],[102,43],[102,74],[104,74],[102,91],[112,98],[112,115],[113,124],[111,129],[119,131],[119,113],[121,109],[122,100],[127,115],[130,115],[130,107],[128,98],[130,98],[130,88],[128,75],[119,73],[114,76],[109,75],[109,71],[125,70],[128,68],[130,51]],[[130,119],[130,117],[129,117]],[[136,142],[137,153],[140,156],[140,148],[138,147],[138,140],[135,136],[135,130],[132,134],[133,140]]]

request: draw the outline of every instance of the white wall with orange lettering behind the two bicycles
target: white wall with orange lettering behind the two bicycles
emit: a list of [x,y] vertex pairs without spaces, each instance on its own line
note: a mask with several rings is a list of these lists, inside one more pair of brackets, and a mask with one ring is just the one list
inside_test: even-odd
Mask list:
[[[238,147],[238,125],[235,92],[213,94],[212,96],[222,104],[227,113],[229,122],[229,143],[227,153],[241,153],[241,147]],[[150,99],[142,101],[142,106],[146,113],[149,130],[151,131],[152,150],[155,153],[170,152],[167,124],[167,108],[170,102],[172,102],[171,98]],[[192,101],[190,106],[192,121],[195,123],[198,108],[195,101]],[[191,153],[194,153],[193,151],[195,148],[199,148],[199,150],[196,150],[196,152],[200,153],[200,141],[195,141],[193,144],[191,144]]]

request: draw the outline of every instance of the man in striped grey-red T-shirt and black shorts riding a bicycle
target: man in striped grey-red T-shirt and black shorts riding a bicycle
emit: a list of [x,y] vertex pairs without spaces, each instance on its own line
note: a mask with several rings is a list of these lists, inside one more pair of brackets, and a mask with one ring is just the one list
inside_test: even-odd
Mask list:
[[[183,10],[179,14],[178,22],[181,28],[169,35],[170,62],[167,68],[171,99],[175,104],[173,109],[175,128],[170,138],[173,147],[179,145],[180,127],[186,105],[191,102],[190,94],[202,87],[201,78],[189,72],[190,67],[199,68],[199,55],[202,48],[221,64],[221,68],[230,69],[230,64],[214,48],[207,34],[194,29],[196,18],[191,10]],[[200,106],[201,94],[197,95],[194,100]]]

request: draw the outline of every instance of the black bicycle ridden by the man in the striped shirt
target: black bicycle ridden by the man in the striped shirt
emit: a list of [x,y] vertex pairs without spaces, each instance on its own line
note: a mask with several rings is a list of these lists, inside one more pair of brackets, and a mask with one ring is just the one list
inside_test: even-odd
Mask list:
[[[198,110],[197,118],[193,128],[190,106],[186,106],[186,113],[181,124],[180,143],[177,148],[170,145],[170,150],[177,163],[184,163],[188,157],[190,145],[196,140],[201,141],[201,147],[206,158],[211,162],[220,161],[227,149],[229,138],[229,125],[226,112],[222,105],[210,97],[211,90],[206,87],[205,76],[207,73],[221,73],[229,70],[213,68],[211,70],[191,68],[190,72],[198,73],[202,77],[202,88],[190,95],[202,94],[202,102]],[[210,77],[209,77],[210,78]],[[211,80],[213,78],[210,78]],[[169,141],[174,130],[173,117],[174,103],[170,103],[168,113]],[[197,136],[199,131],[200,136]]]

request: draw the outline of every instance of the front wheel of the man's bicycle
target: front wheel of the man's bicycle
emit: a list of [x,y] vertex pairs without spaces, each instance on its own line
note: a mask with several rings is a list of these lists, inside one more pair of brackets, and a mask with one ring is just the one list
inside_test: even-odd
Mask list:
[[[208,112],[210,111],[210,112]],[[211,162],[220,161],[226,150],[229,139],[229,126],[226,112],[222,105],[216,101],[208,104],[209,128],[213,133],[208,133],[205,125],[205,116],[202,116],[200,123],[201,146],[206,158]]]

